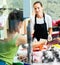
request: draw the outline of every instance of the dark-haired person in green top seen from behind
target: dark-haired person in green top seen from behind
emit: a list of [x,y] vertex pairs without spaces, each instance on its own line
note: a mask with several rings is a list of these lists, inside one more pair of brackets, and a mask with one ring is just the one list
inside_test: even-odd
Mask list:
[[[19,14],[19,19],[16,16],[17,13]],[[15,10],[9,14],[8,38],[6,41],[0,41],[0,62],[3,65],[12,65],[18,46],[27,42],[27,39],[19,33],[22,21],[22,12],[19,13]]]

